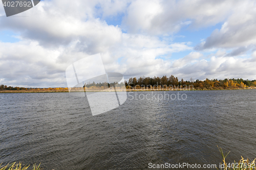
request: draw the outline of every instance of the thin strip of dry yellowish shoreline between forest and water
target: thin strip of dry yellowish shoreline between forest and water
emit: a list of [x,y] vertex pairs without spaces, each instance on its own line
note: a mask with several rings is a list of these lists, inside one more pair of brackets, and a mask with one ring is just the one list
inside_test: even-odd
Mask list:
[[[244,90],[244,89],[256,89],[256,87],[247,87],[247,88],[223,88],[223,89],[126,89],[126,90],[116,90],[116,91],[201,91],[201,90]],[[112,92],[115,90],[86,90],[86,92]],[[0,93],[55,93],[55,92],[69,92],[69,90],[37,90],[37,89],[28,89],[28,90],[0,90]],[[84,92],[81,90],[72,91],[72,92]]]

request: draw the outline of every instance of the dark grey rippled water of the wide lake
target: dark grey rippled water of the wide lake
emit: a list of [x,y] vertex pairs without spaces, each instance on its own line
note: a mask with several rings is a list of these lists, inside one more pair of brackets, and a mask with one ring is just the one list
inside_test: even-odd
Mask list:
[[187,99],[135,100],[152,92],[132,92],[96,116],[85,98],[69,93],[0,93],[0,162],[41,162],[44,169],[219,165],[217,145],[231,151],[229,162],[256,157],[256,90],[179,93]]

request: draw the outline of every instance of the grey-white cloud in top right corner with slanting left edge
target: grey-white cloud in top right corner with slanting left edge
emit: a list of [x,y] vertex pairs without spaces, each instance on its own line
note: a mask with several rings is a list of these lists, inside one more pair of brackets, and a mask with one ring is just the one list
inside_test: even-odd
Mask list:
[[223,23],[220,30],[216,29],[199,44],[196,49],[206,48],[240,48],[256,44],[256,3],[254,1],[238,1],[233,6],[232,14]]

